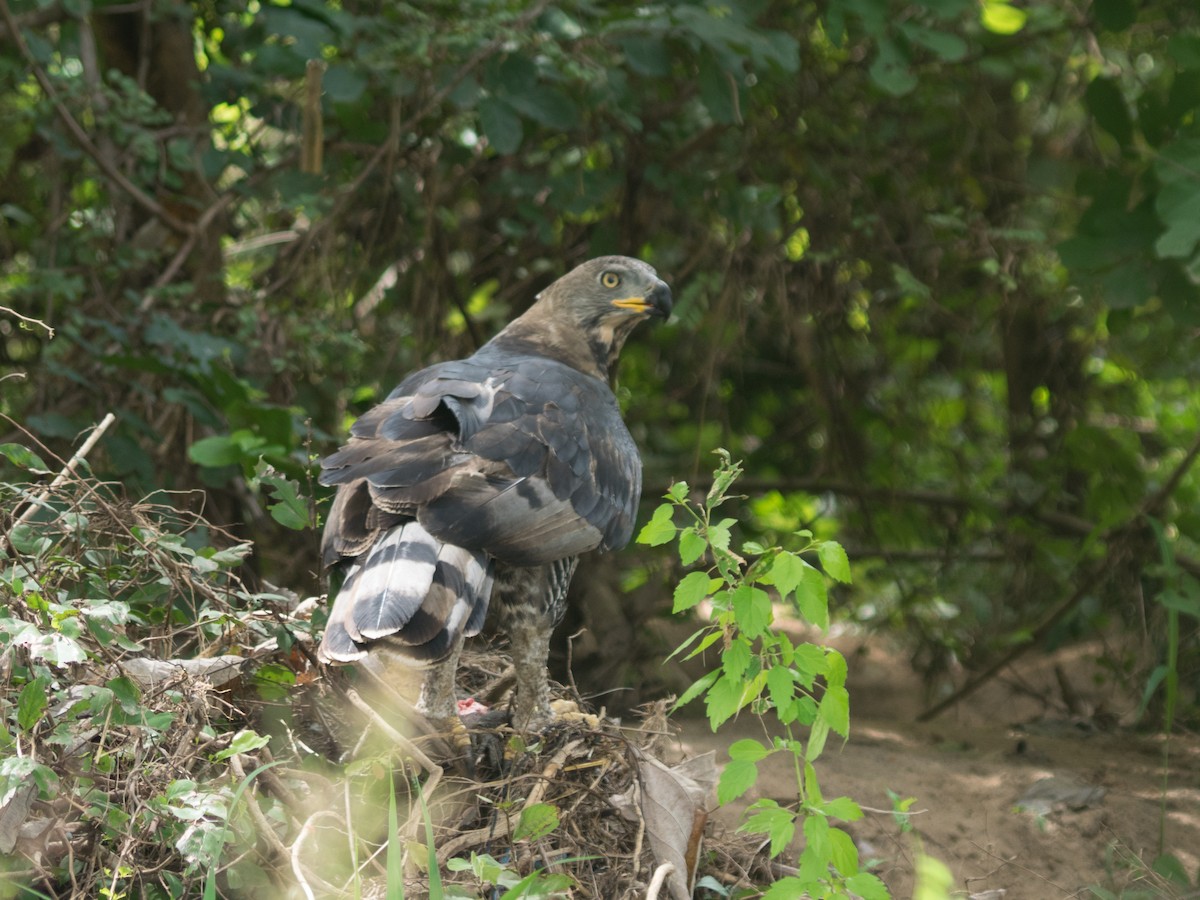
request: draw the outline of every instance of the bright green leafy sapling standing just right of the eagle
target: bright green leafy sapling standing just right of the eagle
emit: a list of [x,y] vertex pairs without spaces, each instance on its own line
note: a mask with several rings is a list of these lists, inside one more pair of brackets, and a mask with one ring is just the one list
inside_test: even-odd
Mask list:
[[[832,824],[862,818],[862,808],[848,797],[824,799],[814,768],[830,732],[850,737],[846,660],[830,647],[797,644],[772,628],[774,599],[790,602],[805,622],[828,626],[826,577],[850,583],[846,552],[836,541],[820,540],[809,530],[793,533],[796,550],[745,541],[734,551],[737,522],[719,517],[719,509],[731,499],[730,491],[743,470],[727,451],[716,452],[720,464],[704,499],[690,499],[686,482],[672,485],[666,502],[637,538],[650,546],[674,541],[684,565],[704,566],[685,575],[676,587],[674,612],[708,601],[710,619],[671,656],[686,652],[684,659],[691,659],[718,646],[721,664],[684,691],[676,708],[703,697],[713,731],[748,707],[755,715],[773,716],[782,728],[769,743],[754,738],[734,742],[716,788],[722,805],[732,803],[755,785],[763,760],[775,754],[791,756],[794,802],[756,800],[739,828],[767,835],[773,857],[782,853],[798,832],[804,836],[798,874],[776,882],[764,898],[780,900],[805,893],[886,898],[883,882],[859,869],[853,840]],[[816,554],[824,574],[804,558],[809,553]]]

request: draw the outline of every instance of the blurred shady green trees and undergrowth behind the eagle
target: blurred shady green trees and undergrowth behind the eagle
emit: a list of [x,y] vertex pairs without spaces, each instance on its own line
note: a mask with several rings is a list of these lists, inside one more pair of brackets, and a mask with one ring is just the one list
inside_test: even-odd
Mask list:
[[[112,412],[97,475],[312,593],[284,500],[319,517],[348,424],[640,256],[678,301],[623,362],[646,509],[728,448],[745,527],[842,541],[841,618],[931,686],[1086,637],[1157,697],[1171,635],[1196,720],[1193,2],[0,14],[0,442],[67,458]],[[584,686],[664,676],[678,572],[618,559],[563,629]]]

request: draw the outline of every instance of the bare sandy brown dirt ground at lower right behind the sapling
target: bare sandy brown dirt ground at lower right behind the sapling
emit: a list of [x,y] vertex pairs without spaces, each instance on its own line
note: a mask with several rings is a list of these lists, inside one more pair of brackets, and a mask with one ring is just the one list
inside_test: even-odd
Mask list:
[[[1121,726],[1134,704],[1094,678],[1094,648],[1026,656],[967,702],[918,724],[924,688],[904,656],[875,638],[828,643],[850,662],[851,740],[839,748],[830,738],[817,774],[827,798],[845,794],[874,810],[848,830],[894,896],[912,896],[918,847],[949,866],[962,896],[1105,896],[1093,887],[1118,896],[1189,895],[1171,892],[1148,864],[1162,828],[1162,846],[1193,883],[1198,878],[1200,739],[1175,737],[1164,768],[1160,738]],[[1063,678],[1082,715],[1054,702]],[[722,748],[733,739],[762,737],[750,716],[720,736],[703,719],[682,721],[680,751],[716,750],[719,762],[727,761]],[[794,797],[786,760],[762,766],[745,802],[714,814],[721,824],[736,827],[740,808],[758,797]],[[1064,786],[1066,799],[1052,793],[1040,814],[1020,810],[1026,792],[1046,778],[1056,781],[1042,787]],[[916,798],[911,834],[893,818],[888,790]]]

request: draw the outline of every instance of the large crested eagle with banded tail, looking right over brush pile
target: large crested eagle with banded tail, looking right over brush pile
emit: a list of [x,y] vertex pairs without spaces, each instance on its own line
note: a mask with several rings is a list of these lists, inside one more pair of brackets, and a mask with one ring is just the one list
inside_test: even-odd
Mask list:
[[512,722],[553,719],[550,635],[580,553],[629,542],[637,446],[610,386],[671,290],[629,257],[583,263],[474,355],[408,376],[322,462],[337,485],[322,556],[344,572],[318,655],[385,648],[427,666],[419,708],[457,721],[455,670],[488,605],[508,632]]

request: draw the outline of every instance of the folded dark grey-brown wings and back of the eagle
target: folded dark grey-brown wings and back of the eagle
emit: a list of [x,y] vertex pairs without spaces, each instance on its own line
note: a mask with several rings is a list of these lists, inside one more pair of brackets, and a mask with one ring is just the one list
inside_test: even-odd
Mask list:
[[486,349],[406,379],[323,462],[322,482],[341,486],[326,563],[407,518],[511,565],[629,541],[641,461],[608,386]]

